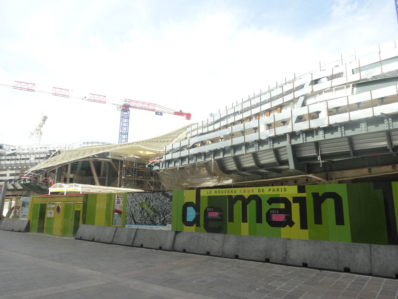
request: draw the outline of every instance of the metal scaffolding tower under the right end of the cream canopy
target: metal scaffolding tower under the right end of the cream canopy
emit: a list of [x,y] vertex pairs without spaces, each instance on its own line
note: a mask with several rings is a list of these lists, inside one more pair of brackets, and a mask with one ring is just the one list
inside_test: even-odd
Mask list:
[[138,158],[123,160],[121,187],[144,191],[164,190],[158,173],[147,168],[146,161]]

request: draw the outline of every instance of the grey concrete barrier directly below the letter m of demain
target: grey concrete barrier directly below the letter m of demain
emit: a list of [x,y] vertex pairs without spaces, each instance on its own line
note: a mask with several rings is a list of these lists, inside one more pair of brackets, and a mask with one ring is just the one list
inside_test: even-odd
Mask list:
[[285,264],[286,238],[225,235],[222,257]]

